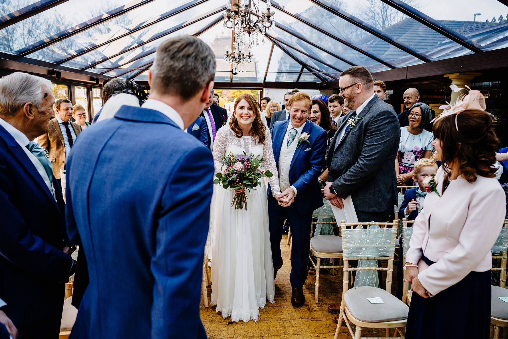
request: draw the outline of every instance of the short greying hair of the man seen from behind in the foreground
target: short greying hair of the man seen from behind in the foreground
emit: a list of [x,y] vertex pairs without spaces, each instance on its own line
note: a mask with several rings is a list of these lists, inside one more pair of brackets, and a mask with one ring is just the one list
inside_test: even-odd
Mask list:
[[188,100],[215,78],[215,53],[192,36],[168,39],[157,47],[151,68],[151,88]]

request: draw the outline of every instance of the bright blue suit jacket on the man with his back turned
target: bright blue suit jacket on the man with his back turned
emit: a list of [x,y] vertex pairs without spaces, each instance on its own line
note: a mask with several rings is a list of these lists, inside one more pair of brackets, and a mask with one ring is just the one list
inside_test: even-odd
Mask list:
[[90,276],[73,339],[206,338],[210,150],[146,108],[122,106],[84,132],[67,163],[69,235]]

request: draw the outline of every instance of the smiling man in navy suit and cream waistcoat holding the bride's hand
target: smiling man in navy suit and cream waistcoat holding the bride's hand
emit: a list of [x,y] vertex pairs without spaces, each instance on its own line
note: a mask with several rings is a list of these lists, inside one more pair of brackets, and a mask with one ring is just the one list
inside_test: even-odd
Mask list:
[[273,155],[282,191],[280,199],[268,194],[273,269],[276,275],[282,266],[280,240],[287,219],[293,236],[290,280],[291,303],[295,307],[305,302],[303,284],[308,273],[312,212],[323,206],[317,177],[325,160],[327,133],[307,120],[311,103],[305,93],[293,95],[288,102],[290,120],[276,121],[272,130]]

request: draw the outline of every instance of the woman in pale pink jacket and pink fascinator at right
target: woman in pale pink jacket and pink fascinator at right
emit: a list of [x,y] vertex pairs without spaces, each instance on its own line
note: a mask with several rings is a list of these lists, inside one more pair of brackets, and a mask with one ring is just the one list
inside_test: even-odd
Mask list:
[[406,339],[489,338],[490,250],[506,208],[492,166],[499,140],[485,108],[471,90],[434,119],[442,166],[426,183],[406,255],[413,291]]

